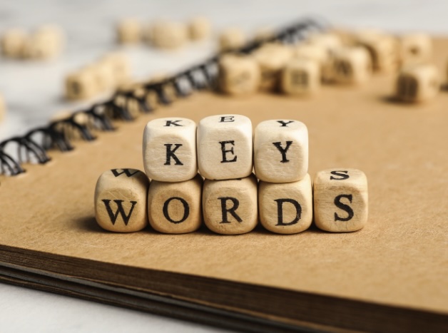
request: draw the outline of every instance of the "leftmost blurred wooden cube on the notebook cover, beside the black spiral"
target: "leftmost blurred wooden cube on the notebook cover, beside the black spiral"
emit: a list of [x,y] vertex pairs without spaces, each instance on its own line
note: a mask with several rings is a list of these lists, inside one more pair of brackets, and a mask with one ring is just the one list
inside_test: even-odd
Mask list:
[[219,62],[220,89],[233,96],[248,95],[258,91],[260,68],[248,56],[226,55]]

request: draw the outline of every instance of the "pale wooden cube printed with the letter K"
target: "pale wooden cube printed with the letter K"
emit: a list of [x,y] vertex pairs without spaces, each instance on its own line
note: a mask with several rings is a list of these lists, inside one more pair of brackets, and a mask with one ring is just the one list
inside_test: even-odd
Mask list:
[[196,123],[187,118],[158,118],[143,131],[146,175],[161,182],[183,182],[198,173]]

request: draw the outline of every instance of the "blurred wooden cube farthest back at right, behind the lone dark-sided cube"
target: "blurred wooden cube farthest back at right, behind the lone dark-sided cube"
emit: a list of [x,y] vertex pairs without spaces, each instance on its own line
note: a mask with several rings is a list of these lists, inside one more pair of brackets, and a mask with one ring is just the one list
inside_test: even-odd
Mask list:
[[400,56],[403,65],[431,60],[432,40],[427,34],[407,34],[400,38]]

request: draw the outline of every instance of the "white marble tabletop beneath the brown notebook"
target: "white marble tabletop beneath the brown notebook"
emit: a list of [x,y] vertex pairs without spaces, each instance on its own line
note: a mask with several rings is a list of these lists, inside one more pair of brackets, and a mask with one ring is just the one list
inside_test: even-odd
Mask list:
[[[259,26],[282,26],[301,16],[318,16],[334,25],[354,28],[448,32],[447,0],[1,0],[0,34],[14,26],[32,29],[56,23],[66,31],[68,43],[63,56],[49,63],[0,58],[0,92],[8,104],[6,120],[0,123],[0,140],[45,124],[57,111],[82,107],[82,103],[63,101],[63,77],[67,71],[117,48],[113,26],[119,18],[187,20],[195,14],[210,17],[217,30],[240,26],[248,33]],[[121,50],[131,58],[134,76],[144,78],[196,63],[214,47],[214,42],[208,41],[173,53],[147,46]],[[0,294],[1,332],[218,332],[198,324],[10,285],[0,284]]]

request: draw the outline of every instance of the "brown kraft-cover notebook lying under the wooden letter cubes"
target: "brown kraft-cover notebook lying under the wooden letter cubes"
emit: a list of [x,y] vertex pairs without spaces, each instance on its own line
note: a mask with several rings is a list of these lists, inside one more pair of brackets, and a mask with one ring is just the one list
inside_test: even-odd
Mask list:
[[[441,69],[447,47],[447,39],[434,41]],[[389,98],[392,86],[393,75],[377,75],[365,86],[324,86],[315,98],[202,91],[134,121],[113,121],[115,130],[73,140],[73,150],[49,150],[47,163],[0,178],[0,280],[253,332],[442,332],[448,93],[411,106]],[[258,226],[232,236],[205,227],[185,235],[98,227],[96,180],[111,168],[143,170],[148,121],[198,122],[225,113],[248,116],[254,126],[273,118],[305,123],[310,175],[340,167],[366,173],[367,226],[344,234],[311,227],[296,235]]]

